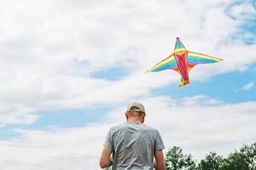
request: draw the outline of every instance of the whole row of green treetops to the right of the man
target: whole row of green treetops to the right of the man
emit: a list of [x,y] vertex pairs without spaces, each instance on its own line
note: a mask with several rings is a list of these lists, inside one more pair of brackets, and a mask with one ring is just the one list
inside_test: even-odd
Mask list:
[[256,170],[256,142],[244,144],[227,158],[210,152],[198,164],[190,154],[184,155],[181,148],[174,146],[166,153],[165,161],[166,170]]

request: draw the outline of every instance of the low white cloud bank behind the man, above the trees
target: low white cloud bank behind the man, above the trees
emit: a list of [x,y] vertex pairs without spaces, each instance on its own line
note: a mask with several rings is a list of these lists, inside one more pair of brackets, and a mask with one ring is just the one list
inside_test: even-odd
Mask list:
[[[255,139],[255,102],[225,104],[206,96],[174,100],[170,97],[140,99],[148,125],[160,130],[166,150],[179,145],[200,160],[210,150],[227,156],[241,144]],[[217,102],[212,102],[215,100]],[[98,169],[102,144],[109,127],[125,122],[123,105],[104,122],[52,131],[15,129],[20,137],[0,141],[3,170]]]

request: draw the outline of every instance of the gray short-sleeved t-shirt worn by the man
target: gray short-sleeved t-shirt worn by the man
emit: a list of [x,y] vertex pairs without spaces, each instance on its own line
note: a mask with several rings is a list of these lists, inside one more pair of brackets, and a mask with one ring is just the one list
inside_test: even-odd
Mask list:
[[165,149],[158,130],[141,122],[111,127],[104,146],[113,152],[113,170],[153,170],[155,150]]

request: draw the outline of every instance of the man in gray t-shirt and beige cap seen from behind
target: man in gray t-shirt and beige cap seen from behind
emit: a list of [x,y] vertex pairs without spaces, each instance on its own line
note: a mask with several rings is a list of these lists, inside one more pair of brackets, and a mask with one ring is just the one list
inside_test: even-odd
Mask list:
[[[158,130],[145,125],[145,109],[133,102],[125,112],[126,121],[111,127],[102,150],[100,167],[113,170],[166,170],[165,145]],[[111,156],[112,155],[112,156]],[[155,159],[155,161],[154,161]]]

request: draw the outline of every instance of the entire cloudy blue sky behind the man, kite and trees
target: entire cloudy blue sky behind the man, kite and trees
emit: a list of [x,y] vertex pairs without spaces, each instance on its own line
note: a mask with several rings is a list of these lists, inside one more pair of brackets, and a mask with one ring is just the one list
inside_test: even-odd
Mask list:
[[[256,2],[1,0],[1,170],[95,170],[131,101],[200,161],[256,139]],[[224,59],[147,73],[176,37]]]

